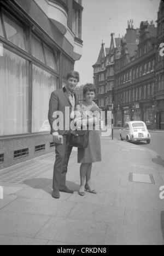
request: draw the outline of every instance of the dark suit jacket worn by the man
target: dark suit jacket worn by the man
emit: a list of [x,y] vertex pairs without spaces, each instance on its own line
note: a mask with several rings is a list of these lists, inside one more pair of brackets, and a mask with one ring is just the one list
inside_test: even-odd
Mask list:
[[[78,100],[75,93],[74,93],[74,97],[75,97],[75,107],[76,107],[76,105],[78,104]],[[69,124],[70,124],[71,122],[70,113],[72,111],[72,105],[71,105],[71,102],[69,101],[66,88],[63,87],[51,93],[51,97],[49,101],[49,113],[48,113],[48,119],[51,126],[51,132],[50,132],[51,134],[52,132],[56,132],[56,131],[60,135],[64,135],[65,133],[69,132],[68,129],[65,130],[65,118],[67,114],[65,113],[65,110],[66,110],[65,107],[69,108],[69,116],[67,116],[67,118],[69,119]],[[52,127],[53,122],[56,119],[56,118],[53,118],[52,116],[56,111],[60,111],[63,113],[63,130],[54,130],[54,128]]]

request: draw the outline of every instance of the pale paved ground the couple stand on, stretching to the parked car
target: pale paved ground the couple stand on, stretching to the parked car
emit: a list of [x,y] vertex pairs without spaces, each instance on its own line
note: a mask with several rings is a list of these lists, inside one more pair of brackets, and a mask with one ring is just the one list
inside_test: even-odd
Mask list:
[[113,141],[101,138],[102,162],[93,163],[97,194],[78,194],[76,148],[67,174],[75,192],[61,192],[60,199],[51,197],[54,152],[1,170],[0,244],[162,245],[164,168],[153,144],[120,141],[114,132]]

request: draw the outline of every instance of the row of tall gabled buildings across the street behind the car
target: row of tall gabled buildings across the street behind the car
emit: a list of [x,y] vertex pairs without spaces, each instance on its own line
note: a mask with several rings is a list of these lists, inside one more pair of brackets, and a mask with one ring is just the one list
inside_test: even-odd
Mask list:
[[128,22],[123,38],[112,33],[110,48],[102,43],[93,65],[96,101],[106,112],[114,88],[115,126],[143,120],[149,129],[164,129],[164,60],[160,54],[164,47],[163,1],[156,22],[157,27],[153,21],[142,21],[139,29],[134,29],[133,20]]

